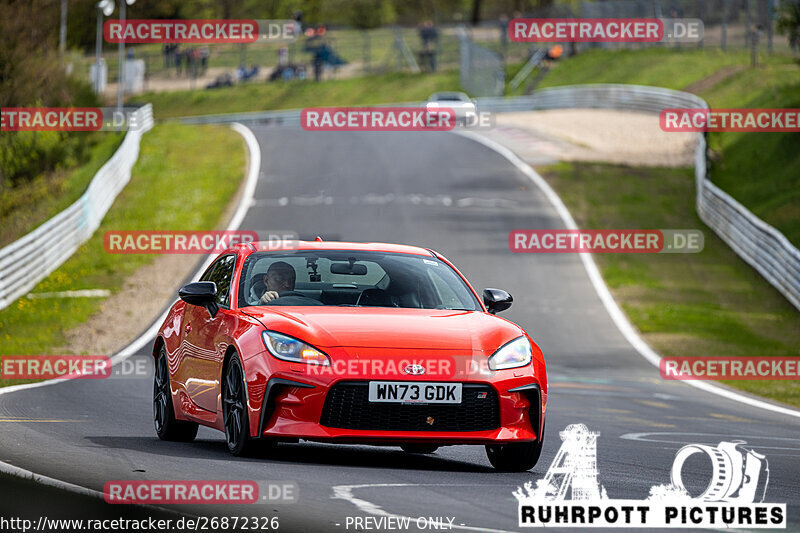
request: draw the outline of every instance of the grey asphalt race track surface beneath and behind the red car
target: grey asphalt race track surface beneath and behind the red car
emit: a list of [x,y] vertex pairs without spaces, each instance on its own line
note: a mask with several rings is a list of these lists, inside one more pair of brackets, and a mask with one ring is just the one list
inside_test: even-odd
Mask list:
[[[558,431],[584,423],[601,433],[598,468],[610,498],[645,499],[650,487],[669,483],[684,444],[743,440],[769,460],[766,501],[787,503],[788,530],[800,529],[800,419],[662,381],[619,333],[578,256],[511,253],[509,231],[562,224],[508,160],[450,133],[253,131],[262,168],[240,229],[431,247],[479,290],[513,294],[502,316],[533,335],[550,379],[548,431],[533,472],[496,473],[477,446],[410,456],[398,448],[300,443],[237,459],[221,433],[206,429],[193,444],[161,442],[151,377],[0,395],[0,460],[98,491],[122,479],[296,481],[296,504],[183,509],[277,515],[282,531],[345,531],[347,517],[381,513],[450,517],[462,530],[517,530],[512,491],[544,475],[561,443]],[[138,358],[149,365],[146,354]],[[702,489],[707,465],[695,466],[687,484]]]

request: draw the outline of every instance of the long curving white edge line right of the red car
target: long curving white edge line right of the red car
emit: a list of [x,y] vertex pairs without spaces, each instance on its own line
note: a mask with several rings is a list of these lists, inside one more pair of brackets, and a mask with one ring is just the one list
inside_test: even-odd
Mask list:
[[[579,229],[578,225],[575,224],[575,220],[572,218],[567,207],[564,205],[564,202],[561,201],[561,198],[556,194],[552,187],[542,178],[530,165],[522,161],[517,155],[506,148],[505,146],[478,135],[477,133],[471,131],[454,131],[456,135],[461,135],[462,137],[466,137],[468,139],[472,139],[473,141],[479,142],[497,152],[498,154],[502,155],[506,159],[508,159],[514,166],[516,166],[520,172],[525,174],[530,180],[537,186],[541,191],[544,193],[545,197],[550,201],[550,203],[555,208],[558,215],[561,217],[561,220],[564,222],[564,225],[567,229]],[[622,336],[625,337],[625,340],[633,346],[639,354],[650,361],[656,367],[658,366],[659,361],[661,360],[661,356],[656,353],[645,341],[639,336],[639,333],[636,331],[636,328],[628,320],[628,317],[625,316],[625,313],[617,305],[617,302],[614,300],[614,297],[611,296],[611,292],[608,290],[608,286],[606,285],[605,281],[603,280],[603,276],[600,275],[600,271],[597,268],[597,264],[594,262],[594,258],[592,254],[578,254],[581,258],[581,262],[583,262],[583,266],[586,269],[586,273],[589,275],[589,280],[592,282],[592,286],[594,287],[595,292],[597,292],[597,296],[600,297],[600,301],[603,302],[603,306],[608,311],[608,314],[611,316],[611,320],[614,321],[614,324],[619,329]],[[763,400],[757,400],[755,398],[750,398],[749,396],[745,396],[743,394],[739,394],[738,392],[734,392],[728,389],[724,389],[717,385],[712,385],[705,381],[697,381],[697,380],[686,380],[684,381],[685,384],[690,385],[692,387],[698,388],[700,390],[710,392],[712,394],[716,394],[717,396],[722,396],[723,398],[727,398],[729,400],[733,400],[735,402],[743,403],[749,405],[751,407],[757,407],[759,409],[765,409],[767,411],[772,411],[774,413],[779,413],[782,415],[793,416],[800,418],[800,411],[795,409],[790,409],[788,407],[783,407],[781,405],[775,405]]]

